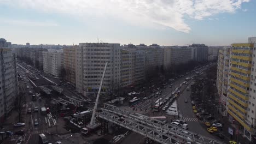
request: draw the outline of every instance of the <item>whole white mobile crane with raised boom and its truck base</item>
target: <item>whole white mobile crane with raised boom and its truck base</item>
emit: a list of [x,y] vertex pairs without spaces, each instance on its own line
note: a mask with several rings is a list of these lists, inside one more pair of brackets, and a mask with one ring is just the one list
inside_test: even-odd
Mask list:
[[101,87],[102,87],[102,83],[103,83],[103,79],[104,79],[106,69],[107,69],[107,63],[105,64],[103,75],[101,77],[101,83],[100,83],[100,87],[98,88],[97,98],[96,98],[96,101],[95,101],[94,110],[92,111],[91,121],[86,126],[86,128],[82,129],[82,134],[86,135],[86,134],[89,133],[89,131],[96,129],[97,127],[100,127],[100,123],[96,123],[96,121],[95,121],[95,114],[96,114],[96,110],[97,110],[98,98],[100,97]]

